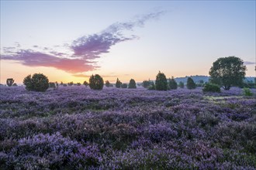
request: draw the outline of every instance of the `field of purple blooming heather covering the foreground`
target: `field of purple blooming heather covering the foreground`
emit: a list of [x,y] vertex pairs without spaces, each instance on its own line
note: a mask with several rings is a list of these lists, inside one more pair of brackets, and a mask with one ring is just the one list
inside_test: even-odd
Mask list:
[[0,87],[0,169],[256,169],[253,93]]

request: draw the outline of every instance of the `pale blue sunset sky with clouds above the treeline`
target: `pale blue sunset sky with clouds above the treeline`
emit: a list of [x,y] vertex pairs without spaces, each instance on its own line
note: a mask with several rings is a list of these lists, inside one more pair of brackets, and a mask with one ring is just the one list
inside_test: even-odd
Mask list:
[[255,76],[255,1],[2,1],[1,83],[206,75],[237,56]]

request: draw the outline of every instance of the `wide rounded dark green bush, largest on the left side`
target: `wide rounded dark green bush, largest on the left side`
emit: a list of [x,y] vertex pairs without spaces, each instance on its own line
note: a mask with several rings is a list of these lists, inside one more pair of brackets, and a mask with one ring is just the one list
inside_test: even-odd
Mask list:
[[31,91],[46,91],[49,87],[49,80],[42,73],[34,73],[32,77],[31,75],[26,76],[23,83],[26,90]]

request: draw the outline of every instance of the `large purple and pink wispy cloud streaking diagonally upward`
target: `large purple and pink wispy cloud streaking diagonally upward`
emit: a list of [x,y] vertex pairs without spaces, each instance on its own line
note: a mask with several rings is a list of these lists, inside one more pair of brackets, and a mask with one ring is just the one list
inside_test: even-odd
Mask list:
[[[109,49],[119,42],[138,39],[138,36],[126,36],[125,31],[133,31],[135,27],[144,26],[145,22],[157,19],[164,12],[152,12],[139,15],[133,21],[116,22],[103,29],[102,32],[75,39],[71,45],[65,44],[70,52],[56,52],[52,48],[34,45],[32,49],[20,49],[19,42],[15,47],[5,47],[1,59],[16,60],[25,66],[50,66],[68,73],[83,73],[99,68],[94,59],[101,57],[103,53],[109,53]],[[66,49],[66,50],[67,50]],[[79,76],[80,74],[74,74]],[[81,75],[80,75],[81,76]]]

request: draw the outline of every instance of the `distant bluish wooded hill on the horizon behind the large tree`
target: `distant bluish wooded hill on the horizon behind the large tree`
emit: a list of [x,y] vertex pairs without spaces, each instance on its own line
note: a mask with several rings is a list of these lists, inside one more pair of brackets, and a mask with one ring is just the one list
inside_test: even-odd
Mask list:
[[[183,82],[183,83],[187,83],[188,78],[191,77],[192,80],[194,80],[195,83],[199,83],[200,80],[203,80],[203,82],[209,82],[209,76],[185,76],[185,77],[177,77],[175,78],[176,82]],[[254,82],[254,76],[246,76],[244,81],[245,82]]]

